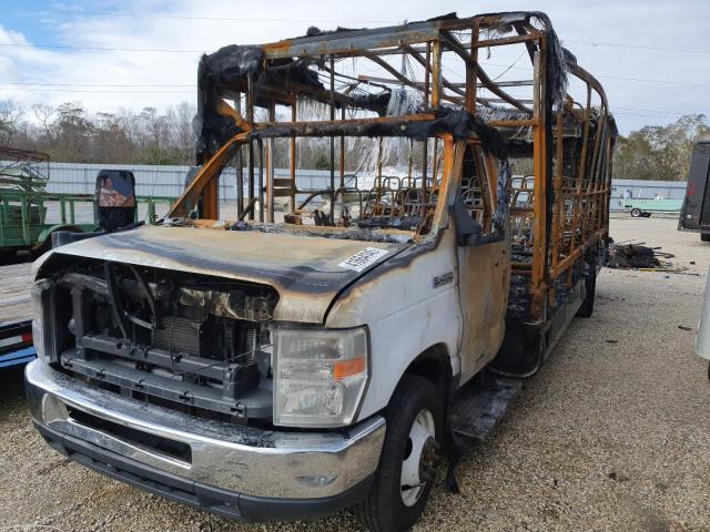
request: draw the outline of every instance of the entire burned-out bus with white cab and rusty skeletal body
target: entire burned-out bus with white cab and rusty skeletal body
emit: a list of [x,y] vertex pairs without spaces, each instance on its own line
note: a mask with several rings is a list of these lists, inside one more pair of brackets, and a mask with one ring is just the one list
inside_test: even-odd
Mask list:
[[544,13],[447,14],[223,48],[195,123],[166,217],[36,263],[37,429],[222,515],[408,529],[591,315],[601,85]]

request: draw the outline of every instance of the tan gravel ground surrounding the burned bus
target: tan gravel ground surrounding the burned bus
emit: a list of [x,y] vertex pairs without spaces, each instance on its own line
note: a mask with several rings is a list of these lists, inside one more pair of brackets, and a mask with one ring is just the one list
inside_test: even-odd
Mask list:
[[[710,385],[693,355],[710,244],[674,218],[618,216],[611,234],[699,276],[605,269],[577,319],[485,444],[459,495],[438,485],[417,530],[710,530]],[[690,264],[694,262],[697,264]],[[0,376],[0,530],[359,530],[349,512],[242,525],[109,480],[49,449]]]

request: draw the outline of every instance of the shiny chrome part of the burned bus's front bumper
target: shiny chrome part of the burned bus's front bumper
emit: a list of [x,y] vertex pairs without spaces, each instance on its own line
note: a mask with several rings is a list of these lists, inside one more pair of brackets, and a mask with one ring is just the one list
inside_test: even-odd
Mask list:
[[[54,447],[64,447],[57,443],[58,438],[74,446],[81,443],[94,452],[105,451],[105,456],[116,460],[120,457],[133,469],[136,466],[141,469],[142,464],[145,471],[164,473],[165,478],[186,479],[251,499],[306,502],[352,490],[372,478],[385,436],[385,421],[379,416],[339,432],[276,432],[234,427],[92,387],[40,360],[28,365],[26,386],[32,418]],[[88,426],[72,418],[77,410],[91,419],[186,444],[189,458],[169,456]],[[110,459],[104,458],[102,463],[114,468]]]

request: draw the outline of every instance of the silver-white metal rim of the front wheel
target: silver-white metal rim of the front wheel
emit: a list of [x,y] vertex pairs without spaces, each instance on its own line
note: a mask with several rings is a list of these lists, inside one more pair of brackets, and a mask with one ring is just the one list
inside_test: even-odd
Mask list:
[[[409,429],[409,441],[402,461],[402,478],[399,490],[405,507],[413,507],[422,497],[426,481],[419,474],[419,464],[427,441],[436,440],[434,415],[427,410],[419,410]],[[408,451],[408,452],[407,452]]]

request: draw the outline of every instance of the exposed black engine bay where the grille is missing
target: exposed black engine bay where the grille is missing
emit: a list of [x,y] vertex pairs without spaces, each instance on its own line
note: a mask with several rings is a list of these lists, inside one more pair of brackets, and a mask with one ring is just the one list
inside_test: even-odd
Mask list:
[[272,287],[91,259],[38,288],[65,371],[200,417],[271,418]]

